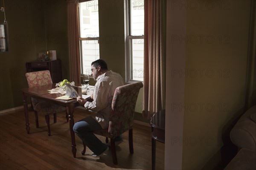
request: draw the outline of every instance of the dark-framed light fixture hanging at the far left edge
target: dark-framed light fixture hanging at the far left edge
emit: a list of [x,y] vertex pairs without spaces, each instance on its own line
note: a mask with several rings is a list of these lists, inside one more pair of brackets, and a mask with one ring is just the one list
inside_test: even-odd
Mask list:
[[3,7],[1,7],[1,12],[4,14],[4,21],[0,23],[0,53],[9,52],[9,37],[8,37],[8,25],[6,21],[6,14],[4,8],[4,0]]

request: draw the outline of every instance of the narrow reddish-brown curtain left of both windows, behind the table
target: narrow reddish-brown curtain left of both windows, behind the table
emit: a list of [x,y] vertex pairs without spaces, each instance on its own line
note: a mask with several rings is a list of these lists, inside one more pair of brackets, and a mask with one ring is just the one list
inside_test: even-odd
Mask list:
[[67,0],[68,47],[70,61],[70,81],[81,84],[81,62],[79,50],[79,11],[78,0]]

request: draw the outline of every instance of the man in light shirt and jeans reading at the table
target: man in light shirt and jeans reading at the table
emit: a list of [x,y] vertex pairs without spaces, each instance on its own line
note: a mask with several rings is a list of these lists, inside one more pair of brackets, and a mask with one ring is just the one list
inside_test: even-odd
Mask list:
[[107,63],[102,59],[91,63],[91,71],[93,79],[96,80],[91,96],[93,102],[88,102],[80,96],[77,101],[85,108],[95,111],[95,114],[76,122],[73,130],[93,151],[93,156],[99,157],[108,149],[108,146],[93,134],[93,130],[108,128],[114,92],[117,87],[124,85],[124,83],[120,74],[108,71]]

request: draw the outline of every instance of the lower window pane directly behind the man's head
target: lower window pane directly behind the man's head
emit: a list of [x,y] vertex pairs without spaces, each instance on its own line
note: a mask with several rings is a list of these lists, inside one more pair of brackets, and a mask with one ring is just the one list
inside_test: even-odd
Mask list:
[[82,74],[91,73],[91,63],[99,59],[99,43],[97,40],[81,41]]

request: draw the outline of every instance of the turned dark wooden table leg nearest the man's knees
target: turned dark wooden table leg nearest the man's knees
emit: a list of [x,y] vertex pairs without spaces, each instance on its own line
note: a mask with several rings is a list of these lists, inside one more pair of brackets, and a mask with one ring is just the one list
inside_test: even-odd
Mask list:
[[67,106],[67,113],[69,117],[69,125],[70,125],[70,136],[71,136],[71,146],[72,146],[72,153],[73,157],[76,158],[76,141],[75,141],[75,133],[73,131],[73,126],[74,126],[74,119],[73,119],[73,113],[75,111],[75,106],[70,104]]

